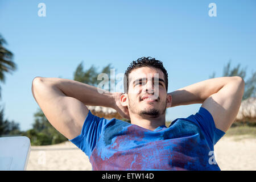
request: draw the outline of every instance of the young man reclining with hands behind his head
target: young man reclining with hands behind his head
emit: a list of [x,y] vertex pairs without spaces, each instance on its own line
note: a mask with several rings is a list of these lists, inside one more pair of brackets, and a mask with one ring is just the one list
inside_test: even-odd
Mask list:
[[[94,170],[220,170],[213,146],[236,118],[244,85],[241,77],[219,77],[167,93],[162,62],[142,57],[126,70],[125,93],[42,77],[34,78],[32,93],[48,121],[89,156]],[[166,108],[188,104],[203,105],[167,128]],[[99,118],[85,105],[112,107],[131,123]]]

